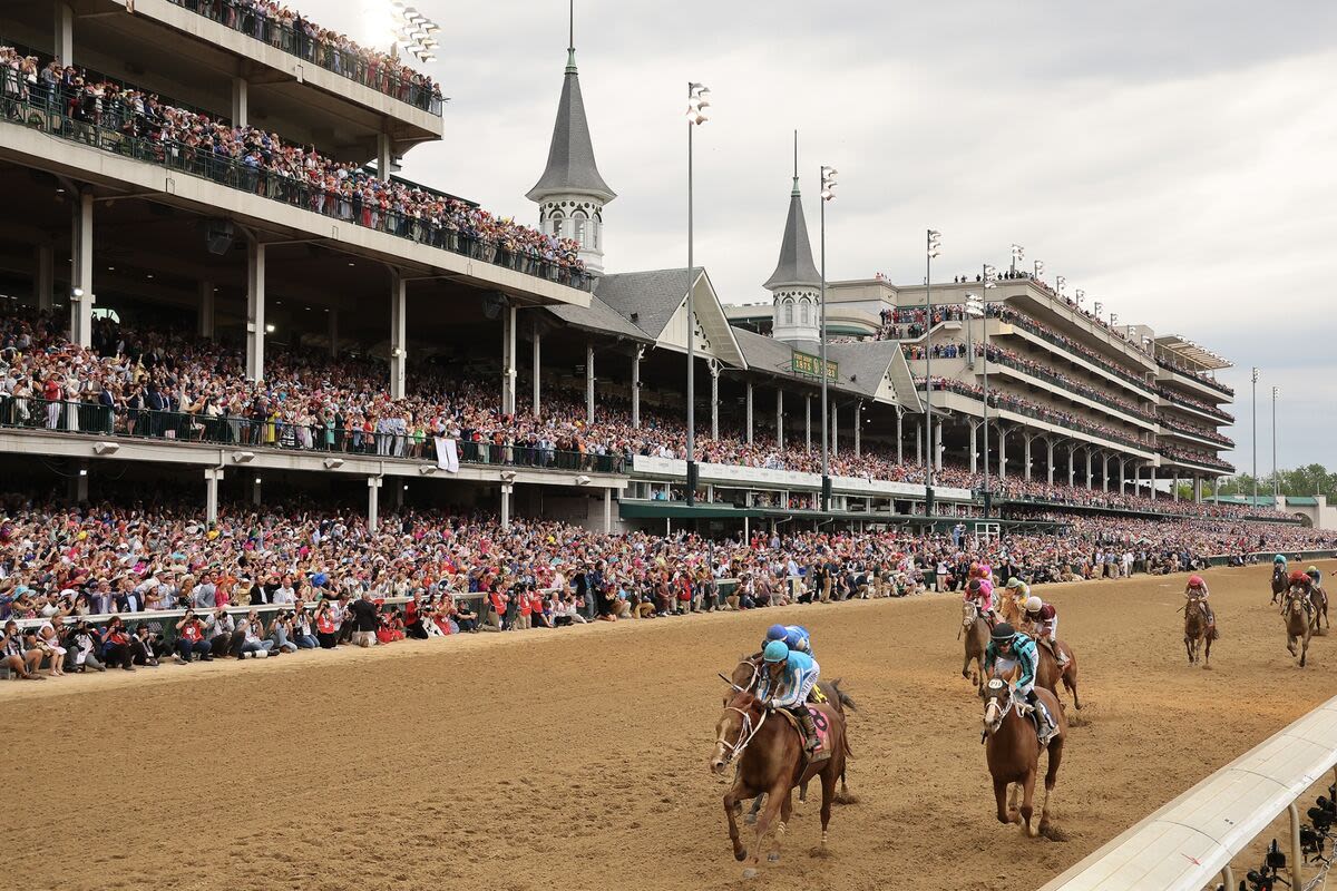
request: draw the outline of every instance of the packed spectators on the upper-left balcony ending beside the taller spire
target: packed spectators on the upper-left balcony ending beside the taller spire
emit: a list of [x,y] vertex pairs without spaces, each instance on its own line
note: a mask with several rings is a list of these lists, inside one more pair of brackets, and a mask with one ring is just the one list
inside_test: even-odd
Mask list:
[[[13,47],[0,47],[0,103],[11,118],[40,106],[68,122],[74,139],[131,151],[263,198],[524,273],[551,271],[575,287],[587,281],[580,246],[572,239]],[[104,139],[106,134],[115,136]]]

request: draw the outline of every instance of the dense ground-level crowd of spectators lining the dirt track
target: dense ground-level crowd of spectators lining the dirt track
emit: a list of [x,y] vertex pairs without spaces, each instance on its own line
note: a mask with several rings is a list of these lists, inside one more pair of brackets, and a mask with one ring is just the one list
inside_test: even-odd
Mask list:
[[[1198,569],[1213,556],[1332,546],[1330,532],[1250,522],[1048,514],[1058,533],[602,534],[552,521],[409,512],[35,504],[0,514],[0,659],[17,676],[259,659],[475,631]],[[476,606],[475,606],[476,604]],[[167,616],[163,610],[176,610]],[[107,616],[111,616],[107,620]],[[36,653],[36,655],[35,655]]]

